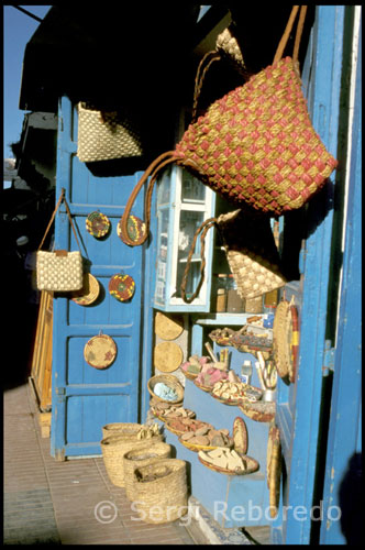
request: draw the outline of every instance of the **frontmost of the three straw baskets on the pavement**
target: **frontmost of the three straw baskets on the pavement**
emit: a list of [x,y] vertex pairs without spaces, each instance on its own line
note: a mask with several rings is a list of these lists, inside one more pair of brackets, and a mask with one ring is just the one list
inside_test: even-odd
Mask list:
[[132,491],[135,509],[143,521],[175,521],[188,512],[186,462],[162,459],[158,463],[136,468]]

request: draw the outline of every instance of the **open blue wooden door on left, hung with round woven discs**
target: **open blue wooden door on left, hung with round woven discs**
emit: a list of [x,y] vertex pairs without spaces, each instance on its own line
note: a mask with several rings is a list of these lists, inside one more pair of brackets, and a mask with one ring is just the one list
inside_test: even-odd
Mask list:
[[[144,246],[130,248],[117,233],[125,202],[137,182],[130,176],[93,175],[79,162],[77,110],[67,98],[59,108],[56,197],[66,189],[74,222],[80,237],[82,256],[100,284],[99,299],[86,307],[68,297],[54,300],[52,454],[66,457],[100,454],[101,428],[107,422],[139,420],[141,378],[141,316]],[[92,169],[92,167],[91,167]],[[143,216],[143,194],[133,213]],[[100,210],[111,222],[110,233],[96,239],[86,230],[86,218]],[[56,216],[55,248],[77,250],[64,206]],[[133,277],[133,298],[119,301],[109,294],[110,277],[124,272]],[[115,361],[104,370],[91,367],[84,359],[88,340],[100,332],[118,348]]]

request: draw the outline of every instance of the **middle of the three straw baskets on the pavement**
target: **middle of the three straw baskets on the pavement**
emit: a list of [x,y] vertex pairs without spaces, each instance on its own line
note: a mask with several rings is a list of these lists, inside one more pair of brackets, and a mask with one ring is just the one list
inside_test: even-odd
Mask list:
[[125,495],[130,501],[135,499],[133,492],[133,472],[136,468],[154,464],[162,459],[169,459],[172,457],[172,446],[163,442],[152,441],[152,444],[145,443],[139,449],[129,451],[123,457],[124,469],[124,486]]

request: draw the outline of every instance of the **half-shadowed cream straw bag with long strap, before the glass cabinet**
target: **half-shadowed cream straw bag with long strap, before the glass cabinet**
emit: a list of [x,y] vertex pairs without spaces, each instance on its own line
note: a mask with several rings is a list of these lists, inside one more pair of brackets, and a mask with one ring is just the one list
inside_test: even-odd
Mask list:
[[[209,218],[196,231],[181,279],[181,296],[191,304],[204,280],[204,238],[210,228],[217,227],[237,293],[243,299],[262,296],[286,284],[280,258],[275,244],[269,218],[248,216],[242,210]],[[200,280],[195,293],[187,297],[186,286],[197,239],[200,235]]]

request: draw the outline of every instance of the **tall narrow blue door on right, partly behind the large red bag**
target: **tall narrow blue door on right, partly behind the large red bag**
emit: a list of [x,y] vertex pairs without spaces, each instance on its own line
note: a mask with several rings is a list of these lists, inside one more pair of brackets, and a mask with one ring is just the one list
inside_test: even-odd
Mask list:
[[[343,6],[316,7],[302,69],[313,127],[336,158],[344,15]],[[286,288],[286,298],[294,295],[299,310],[300,344],[295,384],[286,385],[283,381],[278,384],[276,424],[280,429],[283,475],[279,513],[272,524],[275,543],[310,543],[313,518],[319,514],[313,505],[318,504],[316,487],[320,483],[317,477],[319,447],[327,438],[321,426],[321,407],[323,367],[330,356],[327,321],[329,296],[333,290],[329,284],[335,179],[339,176],[333,173],[327,189],[310,201],[306,217],[299,218],[300,223],[306,224],[300,282]]]

